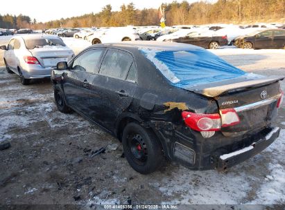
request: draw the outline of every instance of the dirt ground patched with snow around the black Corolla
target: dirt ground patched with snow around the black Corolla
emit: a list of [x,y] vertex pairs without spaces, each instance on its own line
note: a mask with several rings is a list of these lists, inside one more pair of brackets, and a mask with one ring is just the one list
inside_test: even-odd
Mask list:
[[[285,76],[285,50],[213,52],[248,72]],[[128,165],[118,140],[76,113],[57,110],[49,80],[22,86],[5,68],[0,68],[0,124],[0,140],[11,143],[0,151],[0,204],[83,204],[83,209],[94,209],[96,204],[285,202],[284,106],[277,119],[280,137],[227,173],[190,171],[168,162],[141,175]],[[102,147],[105,153],[92,155]]]

